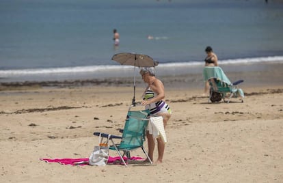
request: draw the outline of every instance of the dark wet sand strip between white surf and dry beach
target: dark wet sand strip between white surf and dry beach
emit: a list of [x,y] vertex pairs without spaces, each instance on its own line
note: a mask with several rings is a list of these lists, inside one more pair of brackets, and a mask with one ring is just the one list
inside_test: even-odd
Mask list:
[[[283,62],[257,63],[257,64],[224,64],[220,65],[231,82],[243,79],[243,87],[255,87],[266,85],[283,85]],[[157,77],[163,81],[165,87],[193,88],[203,87],[203,66],[191,66],[189,68],[156,68]],[[170,71],[171,70],[171,71]],[[172,71],[173,70],[173,71]],[[172,74],[174,73],[174,74]],[[178,74],[176,74],[178,73]],[[185,74],[184,74],[185,73]],[[130,74],[129,74],[130,75]],[[0,91],[38,89],[49,87],[133,87],[133,76],[109,77],[104,79],[66,79],[62,81],[20,81],[1,82]],[[136,86],[143,87],[139,74],[136,75]]]

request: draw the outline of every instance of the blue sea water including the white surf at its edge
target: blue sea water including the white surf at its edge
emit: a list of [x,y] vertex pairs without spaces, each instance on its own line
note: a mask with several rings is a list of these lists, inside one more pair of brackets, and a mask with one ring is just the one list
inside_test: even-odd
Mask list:
[[1,0],[0,27],[1,82],[131,76],[122,52],[174,74],[208,45],[221,64],[283,60],[281,0]]

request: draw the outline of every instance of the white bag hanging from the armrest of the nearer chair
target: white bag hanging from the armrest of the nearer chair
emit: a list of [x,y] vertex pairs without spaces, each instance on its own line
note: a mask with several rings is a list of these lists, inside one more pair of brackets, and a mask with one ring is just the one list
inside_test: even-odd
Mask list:
[[109,158],[109,137],[106,141],[103,142],[103,137],[101,137],[101,133],[98,138],[98,146],[94,146],[94,151],[90,154],[90,158],[88,159],[89,165],[96,166],[105,166],[107,164]]

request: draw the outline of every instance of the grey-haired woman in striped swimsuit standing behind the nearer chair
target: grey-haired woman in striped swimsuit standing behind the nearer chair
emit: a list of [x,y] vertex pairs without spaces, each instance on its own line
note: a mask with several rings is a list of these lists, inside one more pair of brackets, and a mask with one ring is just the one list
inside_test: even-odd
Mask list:
[[[142,104],[146,106],[146,109],[150,109],[150,115],[162,116],[164,128],[171,117],[172,111],[165,102],[165,90],[163,83],[155,77],[154,68],[142,68],[139,72],[142,75],[142,79],[145,83],[148,83],[146,90],[144,91]],[[153,152],[155,147],[155,139],[146,133],[148,138],[148,156],[153,160]],[[157,138],[157,150],[158,159],[156,163],[162,163],[163,154],[165,150],[165,143],[161,137]],[[146,160],[147,161],[147,160]]]

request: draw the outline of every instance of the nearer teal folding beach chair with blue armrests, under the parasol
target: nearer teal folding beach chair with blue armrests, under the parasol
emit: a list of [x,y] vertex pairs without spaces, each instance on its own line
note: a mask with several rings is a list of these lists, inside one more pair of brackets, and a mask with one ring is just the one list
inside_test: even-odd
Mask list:
[[[110,135],[111,145],[109,150],[116,150],[123,165],[126,165],[124,156],[131,158],[130,151],[142,148],[142,151],[146,155],[146,158],[150,160],[146,150],[144,149],[144,141],[146,139],[146,128],[148,126],[149,110],[131,111],[131,107],[127,113],[124,129],[122,130],[122,137],[118,135]],[[94,132],[94,135],[99,136],[100,132]],[[101,137],[108,137],[107,133],[101,133]],[[115,143],[113,139],[120,139],[120,143]],[[124,154],[121,154],[121,152]],[[150,160],[152,164],[152,160]]]

